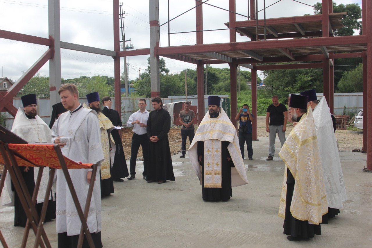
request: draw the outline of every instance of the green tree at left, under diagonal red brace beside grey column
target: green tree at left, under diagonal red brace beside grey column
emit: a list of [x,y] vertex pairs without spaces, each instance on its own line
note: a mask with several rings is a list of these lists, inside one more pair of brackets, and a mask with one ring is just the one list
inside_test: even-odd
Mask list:
[[49,97],[49,77],[36,73],[23,87],[22,95],[35,94],[38,97]]

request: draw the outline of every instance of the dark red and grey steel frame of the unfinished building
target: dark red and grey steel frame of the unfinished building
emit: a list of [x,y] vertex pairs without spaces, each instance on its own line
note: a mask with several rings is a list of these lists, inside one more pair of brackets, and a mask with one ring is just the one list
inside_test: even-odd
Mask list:
[[[237,114],[237,67],[251,69],[252,86],[257,84],[257,70],[323,68],[323,93],[333,112],[333,60],[335,58],[363,58],[363,150],[368,151],[372,144],[372,3],[362,0],[363,34],[354,36],[333,36],[333,29],[340,28],[342,13],[333,13],[332,0],[321,0],[322,14],[284,18],[256,19],[257,0],[248,1],[247,20],[236,21],[236,0],[229,3],[229,20],[222,29],[228,29],[230,42],[203,44],[203,5],[209,0],[195,0],[196,45],[161,47],[159,38],[158,0],[149,0],[150,9],[150,48],[120,51],[119,0],[113,0],[113,38],[114,50],[105,50],[85,45],[61,41],[60,1],[48,0],[49,37],[25,35],[0,30],[0,38],[29,42],[48,46],[45,53],[20,77],[20,79],[0,99],[1,111],[13,116],[17,109],[13,97],[49,61],[49,90],[51,104],[57,103],[58,89],[61,87],[61,48],[101,54],[113,58],[115,78],[115,109],[121,112],[120,58],[136,55],[150,55],[151,97],[160,96],[159,57],[196,64],[198,88],[198,120],[204,115],[204,65],[228,64],[230,67],[231,116]],[[168,1],[169,2],[169,1]],[[264,1],[265,3],[265,1]],[[265,6],[266,7],[266,6]],[[263,12],[265,13],[265,8]],[[240,15],[240,14],[239,14]],[[171,20],[168,18],[168,22]],[[165,23],[164,23],[165,24]],[[163,25],[163,24],[162,24]],[[342,25],[341,25],[342,26]],[[168,31],[168,35],[171,35]],[[247,41],[237,42],[237,34],[247,36]],[[285,39],[311,37],[307,39]],[[315,37],[315,38],[314,38]],[[273,40],[275,39],[275,40]],[[249,40],[249,41],[248,41]],[[4,48],[3,48],[4,49]],[[286,62],[313,61],[313,63],[283,64]],[[265,63],[265,65],[260,65]],[[269,65],[268,65],[269,63]],[[281,64],[275,64],[281,63]],[[257,115],[257,88],[252,87],[252,113]],[[233,121],[236,125],[235,121]],[[257,119],[254,120],[257,127]],[[253,130],[257,139],[257,128]],[[367,169],[372,170],[372,152],[367,154]]]

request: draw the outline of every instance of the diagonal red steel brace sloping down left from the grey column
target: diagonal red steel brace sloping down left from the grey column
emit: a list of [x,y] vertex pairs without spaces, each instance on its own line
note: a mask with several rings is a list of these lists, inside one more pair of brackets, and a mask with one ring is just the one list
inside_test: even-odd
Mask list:
[[4,97],[0,99],[0,109],[5,108],[8,102],[12,101],[13,97],[26,85],[26,83],[44,66],[45,63],[52,57],[53,50],[49,48],[41,57],[10,87]]

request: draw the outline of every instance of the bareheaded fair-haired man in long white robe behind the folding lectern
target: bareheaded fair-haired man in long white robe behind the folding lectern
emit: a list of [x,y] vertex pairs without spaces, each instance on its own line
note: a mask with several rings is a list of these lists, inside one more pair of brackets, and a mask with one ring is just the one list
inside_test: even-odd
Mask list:
[[[63,85],[58,93],[69,111],[60,115],[52,128],[52,142],[59,144],[64,156],[82,163],[103,161],[100,129],[96,111],[79,103],[78,90],[73,84]],[[99,171],[91,178],[92,169],[69,170],[81,208],[84,210],[90,180],[94,179],[87,224],[95,247],[101,242],[101,190]],[[76,247],[81,222],[62,170],[57,170],[57,233],[58,247]],[[84,241],[83,247],[89,247]]]

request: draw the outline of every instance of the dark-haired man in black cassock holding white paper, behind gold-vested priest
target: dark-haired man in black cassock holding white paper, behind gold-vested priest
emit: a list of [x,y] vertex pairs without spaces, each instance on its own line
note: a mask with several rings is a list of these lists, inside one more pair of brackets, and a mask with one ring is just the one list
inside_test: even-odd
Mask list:
[[[121,127],[122,125],[121,117],[118,111],[111,108],[112,106],[111,98],[109,96],[105,96],[104,98],[102,98],[102,104],[103,104],[102,114],[106,115],[106,117],[110,119],[114,127]],[[121,178],[129,176],[128,167],[126,166],[125,161],[123,143],[121,142],[121,137],[118,129],[115,128],[112,129],[111,136],[115,142],[115,156],[112,166],[110,167],[110,174],[112,180],[122,182],[124,180]]]

